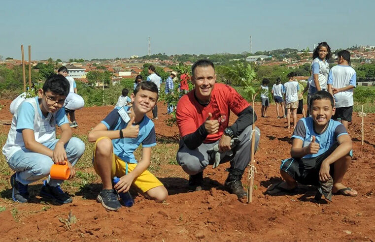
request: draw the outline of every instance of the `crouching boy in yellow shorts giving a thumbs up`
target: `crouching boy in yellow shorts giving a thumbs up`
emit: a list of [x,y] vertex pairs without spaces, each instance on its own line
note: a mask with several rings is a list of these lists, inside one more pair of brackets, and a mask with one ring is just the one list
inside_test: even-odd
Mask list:
[[[102,178],[103,189],[97,200],[107,210],[121,208],[117,192],[128,192],[135,185],[146,198],[163,202],[168,191],[147,171],[151,148],[156,145],[155,125],[146,116],[158,100],[158,87],[152,82],[140,82],[131,94],[133,107],[115,108],[90,133],[94,148],[94,169]],[[142,158],[137,162],[134,151],[142,144]],[[120,181],[112,186],[113,177]]]

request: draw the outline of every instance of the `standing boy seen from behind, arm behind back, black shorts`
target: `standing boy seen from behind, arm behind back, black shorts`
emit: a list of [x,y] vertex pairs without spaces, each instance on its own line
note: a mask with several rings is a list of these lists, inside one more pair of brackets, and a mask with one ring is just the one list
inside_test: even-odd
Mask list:
[[336,113],[332,119],[339,120],[347,129],[353,113],[353,89],[357,74],[350,66],[350,53],[342,50],[338,53],[338,65],[332,67],[328,75],[328,91],[335,98]]

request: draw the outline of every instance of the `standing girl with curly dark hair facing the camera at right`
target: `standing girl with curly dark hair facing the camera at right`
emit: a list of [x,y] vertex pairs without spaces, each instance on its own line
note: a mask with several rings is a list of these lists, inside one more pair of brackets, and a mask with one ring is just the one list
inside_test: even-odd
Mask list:
[[310,95],[316,91],[327,91],[327,80],[329,73],[329,63],[327,60],[331,58],[331,48],[327,42],[321,42],[314,49],[312,54],[312,76],[310,83]]

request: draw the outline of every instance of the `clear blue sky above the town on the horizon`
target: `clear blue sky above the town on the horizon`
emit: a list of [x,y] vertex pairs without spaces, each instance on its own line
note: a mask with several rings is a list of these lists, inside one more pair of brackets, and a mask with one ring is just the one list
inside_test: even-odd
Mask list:
[[[374,0],[5,0],[0,55],[126,58],[375,45]],[[28,52],[25,52],[28,58]]]

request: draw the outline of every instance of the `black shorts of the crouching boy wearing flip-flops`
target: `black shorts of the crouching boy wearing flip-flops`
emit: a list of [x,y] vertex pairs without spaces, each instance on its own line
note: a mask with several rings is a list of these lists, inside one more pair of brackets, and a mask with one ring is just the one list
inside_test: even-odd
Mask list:
[[[294,180],[305,185],[319,186],[319,171],[322,162],[339,146],[334,144],[328,151],[312,158],[288,158],[281,162],[280,170]],[[350,151],[349,155],[352,155]],[[334,174],[334,163],[330,165],[330,174]]]

